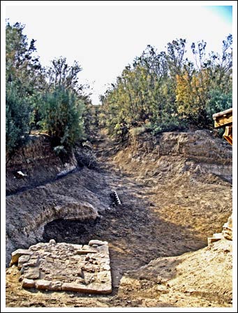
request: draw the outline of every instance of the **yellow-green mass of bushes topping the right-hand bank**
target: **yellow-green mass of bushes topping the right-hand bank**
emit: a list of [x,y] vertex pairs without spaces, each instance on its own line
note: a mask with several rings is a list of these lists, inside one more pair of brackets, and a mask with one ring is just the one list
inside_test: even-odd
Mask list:
[[206,43],[193,43],[194,61],[186,58],[186,40],[168,43],[167,52],[150,45],[124,68],[104,96],[101,117],[110,134],[129,130],[153,133],[188,125],[213,128],[212,114],[232,107],[232,36],[219,56],[206,54]]

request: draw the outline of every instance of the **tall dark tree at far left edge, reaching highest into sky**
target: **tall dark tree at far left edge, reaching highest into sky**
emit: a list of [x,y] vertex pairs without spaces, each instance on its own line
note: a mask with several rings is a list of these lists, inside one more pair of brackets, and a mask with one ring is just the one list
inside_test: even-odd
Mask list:
[[28,43],[24,26],[6,24],[6,152],[21,146],[30,128],[31,100],[36,96],[41,66],[35,41]]

